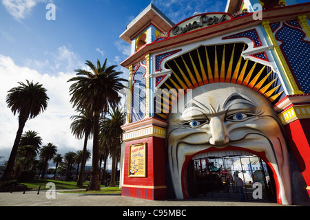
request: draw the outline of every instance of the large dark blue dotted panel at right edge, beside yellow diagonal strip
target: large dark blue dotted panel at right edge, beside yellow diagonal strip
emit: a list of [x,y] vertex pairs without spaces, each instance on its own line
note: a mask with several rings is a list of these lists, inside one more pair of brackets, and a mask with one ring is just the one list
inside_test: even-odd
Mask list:
[[301,90],[310,93],[310,42],[304,41],[304,37],[302,30],[291,28],[285,23],[276,33],[276,39],[283,42],[280,48]]

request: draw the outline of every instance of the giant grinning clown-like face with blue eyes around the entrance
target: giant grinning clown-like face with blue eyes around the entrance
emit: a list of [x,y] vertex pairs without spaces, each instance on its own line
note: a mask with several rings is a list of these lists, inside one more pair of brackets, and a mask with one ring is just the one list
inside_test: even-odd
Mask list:
[[231,83],[203,85],[190,96],[184,96],[183,107],[174,105],[167,118],[169,173],[176,197],[188,197],[188,158],[208,149],[238,148],[265,156],[276,179],[278,202],[290,204],[289,155],[269,100]]

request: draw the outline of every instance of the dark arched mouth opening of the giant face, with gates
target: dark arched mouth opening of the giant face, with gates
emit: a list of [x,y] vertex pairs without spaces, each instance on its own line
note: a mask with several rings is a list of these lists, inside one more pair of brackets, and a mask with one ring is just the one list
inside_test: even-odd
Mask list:
[[[245,151],[211,151],[195,155],[187,167],[189,197],[241,199],[236,174],[242,179],[245,199],[276,201],[271,170],[260,157]],[[259,198],[254,196],[256,192]]]

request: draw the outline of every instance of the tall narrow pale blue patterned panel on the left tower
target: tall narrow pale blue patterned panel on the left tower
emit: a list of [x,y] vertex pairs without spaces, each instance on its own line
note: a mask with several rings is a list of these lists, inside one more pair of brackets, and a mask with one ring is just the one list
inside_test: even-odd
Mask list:
[[138,67],[132,84],[132,122],[142,120],[145,116],[145,68]]

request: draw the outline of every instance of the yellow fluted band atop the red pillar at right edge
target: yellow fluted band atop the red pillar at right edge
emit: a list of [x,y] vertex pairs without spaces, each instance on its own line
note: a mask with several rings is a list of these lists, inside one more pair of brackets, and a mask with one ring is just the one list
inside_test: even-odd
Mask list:
[[310,104],[290,107],[278,114],[278,117],[282,124],[289,124],[290,122],[301,118],[310,118]]

